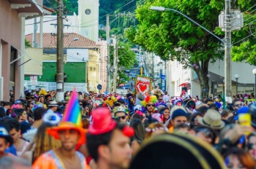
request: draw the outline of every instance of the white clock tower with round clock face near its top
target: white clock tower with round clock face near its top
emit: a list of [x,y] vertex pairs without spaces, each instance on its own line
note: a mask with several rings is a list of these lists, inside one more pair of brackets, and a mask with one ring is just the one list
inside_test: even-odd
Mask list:
[[99,0],[78,0],[78,20],[80,34],[98,42]]

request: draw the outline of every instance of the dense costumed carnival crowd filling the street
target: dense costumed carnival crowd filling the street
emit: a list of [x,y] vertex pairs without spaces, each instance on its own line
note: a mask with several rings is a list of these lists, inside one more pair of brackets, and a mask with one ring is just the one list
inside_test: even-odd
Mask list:
[[154,90],[25,90],[1,102],[0,168],[256,167],[254,93],[176,98]]

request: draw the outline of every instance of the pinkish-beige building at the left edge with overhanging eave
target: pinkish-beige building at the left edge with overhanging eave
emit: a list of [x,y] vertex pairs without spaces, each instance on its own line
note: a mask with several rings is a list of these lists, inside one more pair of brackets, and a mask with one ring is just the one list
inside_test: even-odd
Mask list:
[[0,0],[0,100],[23,96],[25,20],[42,15],[42,0]]

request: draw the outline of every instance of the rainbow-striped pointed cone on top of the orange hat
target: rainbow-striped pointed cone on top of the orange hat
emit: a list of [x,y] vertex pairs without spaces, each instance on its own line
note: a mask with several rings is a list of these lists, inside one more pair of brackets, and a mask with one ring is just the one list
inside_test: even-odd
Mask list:
[[72,95],[70,96],[67,108],[64,111],[64,116],[61,122],[72,122],[78,127],[82,127],[82,117],[80,112],[80,106],[78,103],[77,91],[74,88]]

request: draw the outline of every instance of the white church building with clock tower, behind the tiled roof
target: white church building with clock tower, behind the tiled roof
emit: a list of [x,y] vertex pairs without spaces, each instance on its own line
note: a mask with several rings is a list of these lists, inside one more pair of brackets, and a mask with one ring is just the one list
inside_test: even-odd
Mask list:
[[[94,42],[99,36],[99,0],[78,0],[78,15],[67,15],[63,20],[64,33],[80,34]],[[36,29],[40,32],[39,18],[26,20],[25,34],[32,34]],[[57,16],[45,15],[42,23],[42,33],[57,33]]]

